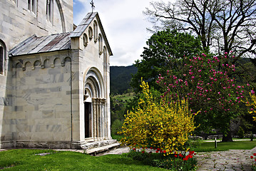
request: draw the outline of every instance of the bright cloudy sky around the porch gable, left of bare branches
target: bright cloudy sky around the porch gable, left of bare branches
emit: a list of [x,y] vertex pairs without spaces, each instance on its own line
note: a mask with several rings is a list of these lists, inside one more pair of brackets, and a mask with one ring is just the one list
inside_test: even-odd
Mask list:
[[[167,1],[167,0],[166,0]],[[78,25],[88,12],[91,0],[73,0],[73,22]],[[111,46],[111,66],[130,66],[141,59],[152,24],[143,15],[148,0],[94,0],[104,31]]]

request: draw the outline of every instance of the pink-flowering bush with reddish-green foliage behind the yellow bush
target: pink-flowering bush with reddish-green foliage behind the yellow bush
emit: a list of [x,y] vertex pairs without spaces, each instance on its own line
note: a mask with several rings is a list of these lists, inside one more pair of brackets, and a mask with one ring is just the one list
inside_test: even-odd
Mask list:
[[163,101],[171,104],[185,98],[192,112],[200,110],[195,122],[202,130],[219,128],[227,133],[230,120],[240,115],[239,105],[245,96],[245,86],[236,82],[235,66],[228,64],[232,58],[227,53],[184,57],[182,71],[170,68],[167,76],[158,77],[157,83],[165,90]]

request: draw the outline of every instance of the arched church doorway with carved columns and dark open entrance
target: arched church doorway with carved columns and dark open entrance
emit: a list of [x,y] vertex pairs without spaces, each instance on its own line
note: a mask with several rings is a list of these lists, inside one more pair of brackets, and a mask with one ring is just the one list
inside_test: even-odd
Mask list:
[[97,68],[90,68],[83,79],[85,138],[101,140],[107,136],[107,110],[103,76]]

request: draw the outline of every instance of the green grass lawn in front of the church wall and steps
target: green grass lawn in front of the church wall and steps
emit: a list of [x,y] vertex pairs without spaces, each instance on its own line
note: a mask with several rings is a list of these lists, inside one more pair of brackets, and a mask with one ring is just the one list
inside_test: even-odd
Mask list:
[[[51,152],[50,155],[36,155]],[[8,167],[8,168],[4,168]],[[4,168],[4,169],[3,169]],[[0,152],[0,170],[164,170],[123,155],[93,157],[79,152],[7,150]]]

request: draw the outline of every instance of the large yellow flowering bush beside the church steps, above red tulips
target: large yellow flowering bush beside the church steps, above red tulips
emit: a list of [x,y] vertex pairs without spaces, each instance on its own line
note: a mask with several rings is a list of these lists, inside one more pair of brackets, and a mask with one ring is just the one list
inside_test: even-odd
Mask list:
[[130,147],[155,147],[173,153],[183,147],[188,135],[195,130],[193,113],[188,102],[159,104],[150,93],[148,83],[142,81],[142,97],[135,111],[128,111],[121,134],[123,144]]

